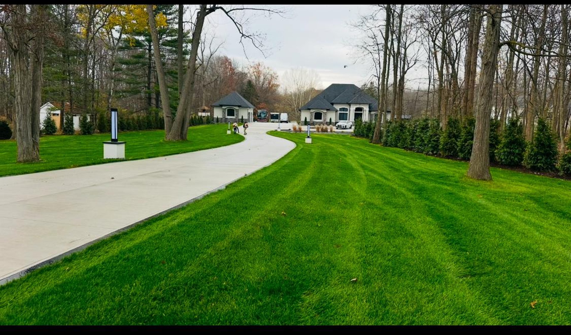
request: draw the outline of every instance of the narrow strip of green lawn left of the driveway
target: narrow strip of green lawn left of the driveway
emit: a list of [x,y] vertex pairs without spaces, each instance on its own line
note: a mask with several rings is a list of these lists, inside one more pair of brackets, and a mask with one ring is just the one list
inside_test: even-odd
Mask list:
[[[227,136],[227,127],[226,124],[192,126],[188,128],[188,141],[186,142],[164,141],[164,130],[120,132],[119,140],[127,142],[125,159],[139,160],[140,158],[217,148],[244,140],[242,136]],[[17,163],[16,142],[2,140],[0,141],[0,177],[117,161],[103,159],[103,141],[109,140],[109,133],[90,136],[42,136],[39,142],[41,161],[37,163]]]

